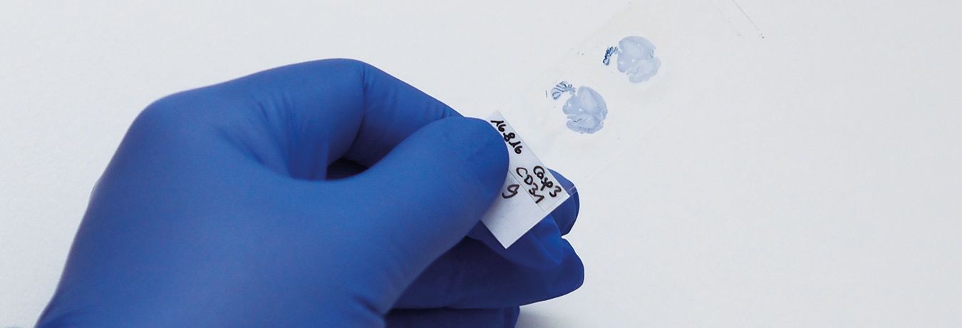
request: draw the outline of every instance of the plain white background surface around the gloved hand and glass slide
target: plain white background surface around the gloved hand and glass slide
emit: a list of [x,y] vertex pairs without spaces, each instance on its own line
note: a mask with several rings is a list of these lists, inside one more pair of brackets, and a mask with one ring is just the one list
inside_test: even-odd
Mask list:
[[[481,116],[623,4],[0,2],[0,325],[33,324],[152,100],[349,57]],[[962,3],[739,4],[758,65],[579,184],[585,285],[519,326],[962,325]]]

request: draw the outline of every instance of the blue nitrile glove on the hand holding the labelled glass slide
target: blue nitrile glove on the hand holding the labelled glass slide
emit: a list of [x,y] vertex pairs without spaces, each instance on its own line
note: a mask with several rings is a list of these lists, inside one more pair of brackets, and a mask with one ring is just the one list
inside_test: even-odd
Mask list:
[[488,123],[365,63],[170,95],[97,183],[38,325],[513,326],[583,268],[576,197],[509,249],[478,222],[506,169]]

